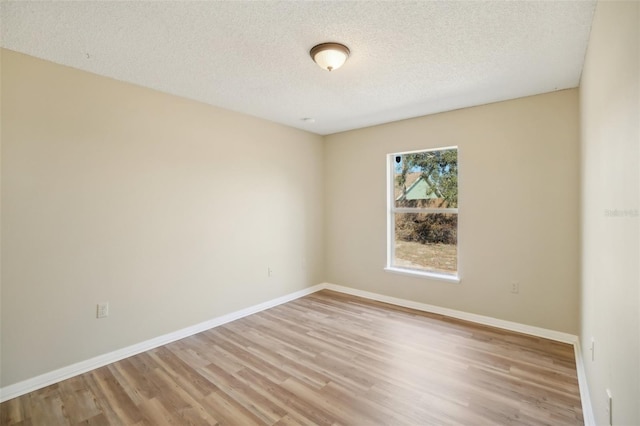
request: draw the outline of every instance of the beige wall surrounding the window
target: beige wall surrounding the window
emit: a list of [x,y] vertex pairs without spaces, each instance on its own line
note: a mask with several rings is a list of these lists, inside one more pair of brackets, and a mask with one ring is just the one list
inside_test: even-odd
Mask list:
[[[578,332],[578,93],[416,118],[325,138],[331,283]],[[383,271],[387,153],[459,147],[460,284]],[[520,294],[510,293],[510,282]]]

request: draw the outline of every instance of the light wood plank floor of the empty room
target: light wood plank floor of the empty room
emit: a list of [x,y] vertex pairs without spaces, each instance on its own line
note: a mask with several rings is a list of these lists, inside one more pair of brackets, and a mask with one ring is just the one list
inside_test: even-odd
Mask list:
[[583,424],[571,346],[326,290],[0,409],[2,425]]

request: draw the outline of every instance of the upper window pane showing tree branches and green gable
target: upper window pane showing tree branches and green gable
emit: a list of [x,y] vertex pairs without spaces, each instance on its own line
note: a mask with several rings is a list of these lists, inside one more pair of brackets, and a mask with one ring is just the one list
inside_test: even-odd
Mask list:
[[394,156],[396,207],[458,207],[458,150]]

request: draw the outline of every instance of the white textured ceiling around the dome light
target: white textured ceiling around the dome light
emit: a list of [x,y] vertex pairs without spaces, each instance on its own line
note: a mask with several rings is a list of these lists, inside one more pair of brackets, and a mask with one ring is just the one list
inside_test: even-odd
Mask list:
[[[595,1],[0,3],[2,47],[318,134],[578,86]],[[318,43],[351,49],[334,72]],[[313,118],[304,121],[304,118]]]

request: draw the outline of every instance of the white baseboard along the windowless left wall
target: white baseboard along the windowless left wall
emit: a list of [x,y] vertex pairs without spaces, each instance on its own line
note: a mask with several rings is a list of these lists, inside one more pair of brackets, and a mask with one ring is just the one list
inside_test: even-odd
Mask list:
[[79,374],[86,373],[96,368],[104,367],[105,365],[120,361],[121,359],[125,359],[141,352],[145,352],[159,346],[175,342],[176,340],[184,339],[185,337],[189,337],[202,331],[209,330],[210,328],[226,324],[228,322],[246,317],[251,314],[255,314],[260,311],[264,311],[265,309],[273,308],[274,306],[278,306],[291,300],[306,296],[308,294],[315,293],[316,291],[322,290],[323,288],[324,285],[322,284],[308,287],[303,290],[296,291],[294,293],[287,294],[282,297],[266,301],[264,303],[260,303],[258,305],[250,306],[248,308],[241,309],[227,315],[213,318],[211,320],[193,325],[191,327],[183,328],[182,330],[174,331],[173,333],[165,334],[150,340],[145,340],[144,342],[140,342],[126,348],[118,349],[104,355],[99,355],[85,361],[71,364],[69,366],[50,371],[45,374],[41,374],[39,376],[15,383],[13,385],[5,386],[3,388],[0,388],[0,402],[8,401],[20,395],[24,395],[26,393],[41,389],[45,386],[61,382],[62,380],[70,379],[71,377],[75,377]]

